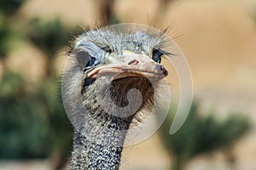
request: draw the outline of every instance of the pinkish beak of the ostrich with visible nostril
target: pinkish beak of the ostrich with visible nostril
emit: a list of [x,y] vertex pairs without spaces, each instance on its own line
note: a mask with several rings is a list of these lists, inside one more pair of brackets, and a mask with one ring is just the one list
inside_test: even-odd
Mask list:
[[148,77],[161,79],[168,75],[163,65],[154,62],[147,55],[125,53],[122,61],[101,65],[87,73],[87,77],[96,78],[113,75],[114,79],[123,77]]

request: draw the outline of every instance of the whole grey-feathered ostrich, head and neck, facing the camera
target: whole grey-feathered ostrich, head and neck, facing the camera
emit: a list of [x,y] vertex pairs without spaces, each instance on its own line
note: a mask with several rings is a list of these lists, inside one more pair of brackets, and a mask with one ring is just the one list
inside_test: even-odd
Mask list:
[[[64,105],[75,112],[71,169],[119,169],[127,130],[143,122],[141,112],[150,111],[154,88],[168,75],[160,64],[170,54],[165,41],[164,33],[124,28],[90,29],[75,38],[68,53],[73,64],[62,77]],[[140,95],[129,97],[131,89]]]

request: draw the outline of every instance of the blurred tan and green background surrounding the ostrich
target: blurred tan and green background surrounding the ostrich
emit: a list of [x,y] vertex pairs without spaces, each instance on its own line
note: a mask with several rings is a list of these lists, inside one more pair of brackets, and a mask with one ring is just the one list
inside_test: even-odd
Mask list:
[[255,170],[256,1],[0,0],[0,169],[67,169],[61,70],[77,26],[172,26],[195,83],[183,127],[125,148],[121,169]]

